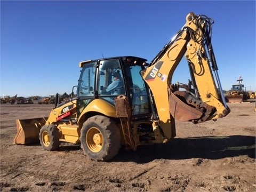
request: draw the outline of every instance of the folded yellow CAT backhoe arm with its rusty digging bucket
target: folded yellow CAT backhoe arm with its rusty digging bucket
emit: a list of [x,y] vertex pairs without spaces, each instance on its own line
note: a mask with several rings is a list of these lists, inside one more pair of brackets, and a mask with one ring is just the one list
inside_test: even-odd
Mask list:
[[[185,26],[164,46],[150,65],[141,71],[157,109],[158,119],[154,120],[159,122],[167,139],[175,136],[174,118],[201,123],[224,117],[230,112],[219,81],[211,45],[212,21],[204,15],[189,13]],[[183,55],[188,61],[190,76],[194,81],[194,93],[179,91],[179,87],[172,84],[174,70]]]

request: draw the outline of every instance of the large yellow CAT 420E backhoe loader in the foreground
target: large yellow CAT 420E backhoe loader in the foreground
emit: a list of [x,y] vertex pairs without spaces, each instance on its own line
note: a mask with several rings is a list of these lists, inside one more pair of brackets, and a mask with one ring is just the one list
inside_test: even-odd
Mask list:
[[[185,26],[150,63],[132,56],[79,62],[75,97],[58,104],[57,94],[49,117],[17,119],[14,143],[39,141],[50,151],[61,142],[81,143],[89,158],[108,161],[122,145],[135,150],[171,141],[175,119],[196,124],[227,116],[230,109],[211,44],[212,23],[205,15],[189,13]],[[183,56],[191,76],[186,86],[172,83]],[[108,91],[113,77],[122,83]]]

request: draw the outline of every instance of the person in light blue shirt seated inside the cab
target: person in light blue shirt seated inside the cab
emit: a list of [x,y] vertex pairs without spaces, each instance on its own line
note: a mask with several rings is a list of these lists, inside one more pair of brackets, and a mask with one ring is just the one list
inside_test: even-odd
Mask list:
[[124,86],[123,80],[119,70],[114,74],[114,81],[110,83],[106,89],[107,92],[111,92],[112,95],[121,94],[121,88]]

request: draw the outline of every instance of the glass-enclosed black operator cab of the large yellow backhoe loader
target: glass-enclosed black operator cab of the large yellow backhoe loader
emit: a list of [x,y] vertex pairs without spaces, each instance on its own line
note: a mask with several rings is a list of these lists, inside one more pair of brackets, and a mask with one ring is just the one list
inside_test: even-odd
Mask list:
[[80,63],[77,109],[85,108],[94,99],[115,106],[115,98],[122,94],[129,100],[132,116],[149,117],[148,89],[140,75],[146,61],[138,57],[115,57]]

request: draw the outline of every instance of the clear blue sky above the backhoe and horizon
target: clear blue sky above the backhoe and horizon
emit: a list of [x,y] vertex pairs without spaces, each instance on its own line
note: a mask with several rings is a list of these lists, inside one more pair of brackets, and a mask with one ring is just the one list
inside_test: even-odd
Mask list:
[[[189,12],[214,20],[222,88],[255,90],[255,1],[1,1],[1,92],[71,93],[79,61],[134,55],[150,62]],[[173,82],[187,83],[182,61]]]

